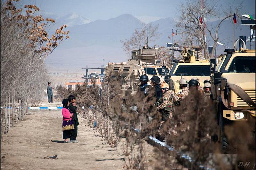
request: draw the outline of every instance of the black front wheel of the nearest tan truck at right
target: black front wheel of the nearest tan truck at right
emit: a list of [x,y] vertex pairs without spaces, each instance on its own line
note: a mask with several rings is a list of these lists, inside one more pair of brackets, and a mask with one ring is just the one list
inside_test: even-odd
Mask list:
[[222,114],[220,114],[220,151],[222,153],[228,152],[228,138],[226,137],[224,133],[225,128],[225,120],[222,117]]

